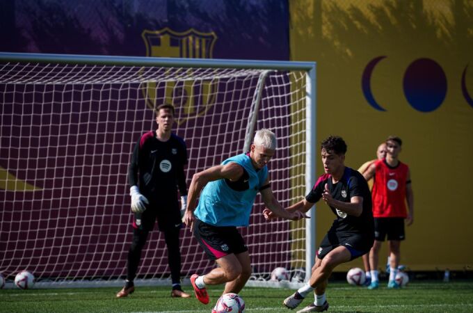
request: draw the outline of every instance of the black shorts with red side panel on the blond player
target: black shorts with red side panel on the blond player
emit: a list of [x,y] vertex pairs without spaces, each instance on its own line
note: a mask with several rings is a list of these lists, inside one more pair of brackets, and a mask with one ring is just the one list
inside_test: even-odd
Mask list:
[[195,218],[194,236],[211,260],[248,251],[243,237],[234,226],[218,227]]

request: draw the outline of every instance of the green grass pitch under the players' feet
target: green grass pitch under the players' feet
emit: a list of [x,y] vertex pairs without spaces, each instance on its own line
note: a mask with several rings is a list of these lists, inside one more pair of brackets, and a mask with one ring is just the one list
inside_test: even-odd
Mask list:
[[[118,288],[120,289],[120,288]],[[137,287],[128,298],[116,299],[117,288],[2,289],[0,312],[211,312],[222,287],[210,288],[211,303],[170,298],[167,287]],[[191,287],[186,286],[186,291]],[[296,312],[282,307],[290,289],[248,287],[240,295],[246,312]],[[329,312],[473,312],[473,281],[412,282],[400,290],[369,291],[346,282],[330,282]],[[304,307],[312,296],[300,305]]]

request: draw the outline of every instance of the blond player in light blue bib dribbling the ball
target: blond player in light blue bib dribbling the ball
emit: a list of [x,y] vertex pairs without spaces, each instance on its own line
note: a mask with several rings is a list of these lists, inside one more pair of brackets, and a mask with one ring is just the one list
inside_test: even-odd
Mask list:
[[207,285],[226,283],[223,294],[237,294],[250,278],[250,255],[236,227],[248,226],[258,192],[275,216],[290,220],[307,217],[298,211],[289,213],[282,209],[271,191],[266,164],[275,149],[273,132],[260,129],[249,152],[193,175],[184,221],[209,259],[218,264],[205,275],[191,276],[195,296],[204,304],[209,303]]

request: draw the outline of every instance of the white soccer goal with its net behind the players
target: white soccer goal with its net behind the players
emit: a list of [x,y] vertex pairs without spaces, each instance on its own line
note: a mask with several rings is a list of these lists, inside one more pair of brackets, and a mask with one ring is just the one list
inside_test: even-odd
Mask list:
[[[255,130],[278,137],[269,164],[284,207],[315,177],[315,63],[0,53],[0,273],[31,271],[36,287],[121,285],[131,243],[127,166],[154,108],[176,108],[175,132],[195,172],[248,149]],[[265,221],[257,198],[241,228],[248,285],[300,284],[315,255],[315,220]],[[314,214],[312,214],[314,216]],[[182,277],[214,267],[182,229]],[[170,284],[156,230],[136,284]],[[274,268],[287,269],[282,282]],[[279,278],[280,279],[280,278]],[[307,279],[307,277],[306,277]]]

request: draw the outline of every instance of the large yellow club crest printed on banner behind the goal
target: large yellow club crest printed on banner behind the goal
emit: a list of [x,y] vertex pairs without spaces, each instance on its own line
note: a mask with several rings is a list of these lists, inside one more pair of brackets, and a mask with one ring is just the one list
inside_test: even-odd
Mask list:
[[[147,56],[171,58],[212,58],[217,36],[214,32],[202,33],[195,29],[177,32],[168,27],[159,31],[145,30],[141,34],[146,45]],[[177,70],[174,74],[189,75],[193,69]],[[173,81],[147,83],[143,94],[147,106],[154,109],[159,104],[173,104],[176,121],[181,125],[186,120],[204,115],[216,101],[216,81]]]

